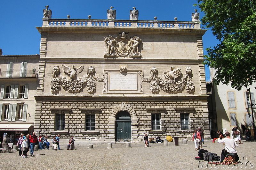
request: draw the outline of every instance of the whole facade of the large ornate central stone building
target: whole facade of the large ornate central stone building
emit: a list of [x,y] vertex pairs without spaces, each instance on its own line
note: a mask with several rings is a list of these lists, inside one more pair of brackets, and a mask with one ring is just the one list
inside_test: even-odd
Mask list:
[[190,138],[200,126],[210,137],[198,21],[44,17],[36,28],[37,133],[141,142]]

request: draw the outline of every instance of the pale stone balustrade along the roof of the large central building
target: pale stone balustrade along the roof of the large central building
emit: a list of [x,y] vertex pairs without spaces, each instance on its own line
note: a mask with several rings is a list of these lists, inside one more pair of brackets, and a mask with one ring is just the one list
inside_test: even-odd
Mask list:
[[201,29],[200,22],[157,21],[157,20],[106,20],[106,19],[43,19],[49,27],[144,27]]

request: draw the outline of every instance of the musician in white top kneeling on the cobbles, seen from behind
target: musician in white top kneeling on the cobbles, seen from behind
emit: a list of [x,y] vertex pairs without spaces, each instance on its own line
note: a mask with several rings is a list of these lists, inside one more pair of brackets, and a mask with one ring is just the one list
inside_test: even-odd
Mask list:
[[227,137],[224,139],[220,139],[221,135],[218,138],[218,143],[220,144],[224,143],[224,146],[225,146],[225,148],[221,152],[220,162],[233,164],[239,160],[239,157],[235,149],[235,147],[238,147],[238,145],[236,144],[236,141],[230,137],[230,134],[228,131],[225,133],[225,135]]

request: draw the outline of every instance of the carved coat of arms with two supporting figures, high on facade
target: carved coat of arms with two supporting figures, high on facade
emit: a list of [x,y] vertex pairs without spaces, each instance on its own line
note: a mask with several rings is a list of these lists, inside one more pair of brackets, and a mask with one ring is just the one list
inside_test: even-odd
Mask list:
[[116,38],[109,35],[104,37],[107,51],[105,58],[141,58],[141,39],[137,36],[129,37],[126,33],[119,34]]

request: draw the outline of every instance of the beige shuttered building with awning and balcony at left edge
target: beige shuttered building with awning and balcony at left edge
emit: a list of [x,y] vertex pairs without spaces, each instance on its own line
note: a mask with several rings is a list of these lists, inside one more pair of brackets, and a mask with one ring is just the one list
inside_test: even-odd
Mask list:
[[0,136],[33,131],[39,55],[0,55]]

